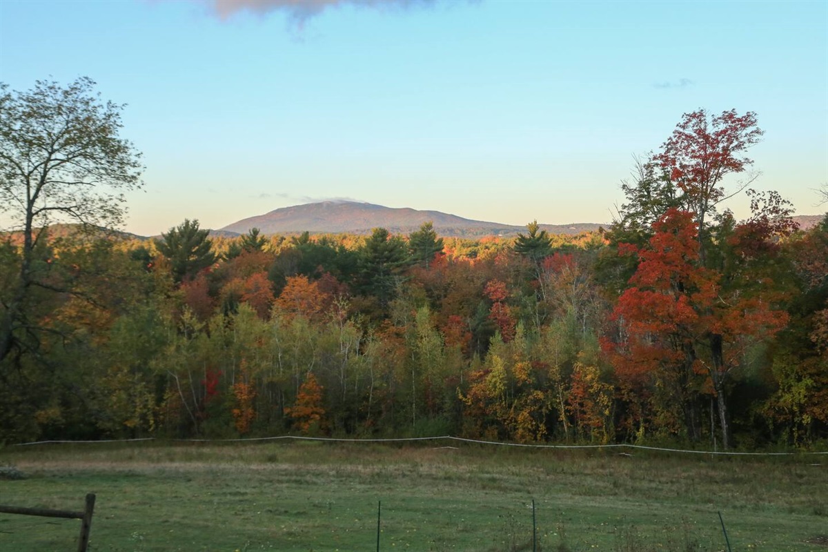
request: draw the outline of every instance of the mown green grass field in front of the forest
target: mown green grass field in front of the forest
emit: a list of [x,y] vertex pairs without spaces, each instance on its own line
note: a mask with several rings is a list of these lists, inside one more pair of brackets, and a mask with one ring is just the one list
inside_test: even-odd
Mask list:
[[[90,550],[828,551],[828,458],[277,441],[7,447],[0,504],[82,510]],[[0,514],[0,550],[79,521]]]

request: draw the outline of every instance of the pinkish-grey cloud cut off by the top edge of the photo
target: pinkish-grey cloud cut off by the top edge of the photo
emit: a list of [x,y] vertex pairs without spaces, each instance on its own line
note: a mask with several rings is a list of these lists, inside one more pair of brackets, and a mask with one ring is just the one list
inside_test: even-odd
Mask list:
[[324,12],[329,7],[358,6],[378,10],[430,6],[436,0],[203,0],[222,19],[238,12],[251,12],[265,16],[271,12],[282,12],[298,26]]

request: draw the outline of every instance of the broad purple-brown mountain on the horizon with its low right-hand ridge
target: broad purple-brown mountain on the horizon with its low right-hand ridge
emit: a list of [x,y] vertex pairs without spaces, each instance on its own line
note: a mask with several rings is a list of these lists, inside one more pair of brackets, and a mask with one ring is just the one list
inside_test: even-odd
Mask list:
[[[354,201],[322,201],[276,209],[267,214],[243,218],[220,228],[224,232],[247,233],[258,228],[264,234],[277,233],[371,233],[372,228],[386,228],[391,233],[412,233],[422,223],[431,221],[436,233],[445,237],[514,236],[525,232],[524,226],[489,223],[458,217],[440,211],[393,209]],[[527,221],[529,222],[529,221]],[[542,224],[549,233],[576,234],[597,230],[599,224]]]

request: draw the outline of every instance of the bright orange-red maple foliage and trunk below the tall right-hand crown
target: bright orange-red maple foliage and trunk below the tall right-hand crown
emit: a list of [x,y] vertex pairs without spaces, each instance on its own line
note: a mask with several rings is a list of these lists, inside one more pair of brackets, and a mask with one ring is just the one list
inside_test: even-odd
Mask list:
[[749,293],[730,290],[720,272],[703,266],[693,218],[669,209],[653,226],[648,246],[627,251],[639,263],[614,311],[626,330],[619,369],[622,375],[677,370],[684,381],[706,374],[727,449],[729,379],[744,365],[749,346],[782,329],[787,314],[774,308],[767,283]]

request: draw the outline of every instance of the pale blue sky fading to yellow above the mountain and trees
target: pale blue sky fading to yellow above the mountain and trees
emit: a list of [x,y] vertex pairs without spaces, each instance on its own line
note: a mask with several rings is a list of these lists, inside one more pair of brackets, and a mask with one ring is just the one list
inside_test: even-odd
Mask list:
[[699,108],[757,113],[753,187],[825,212],[826,0],[0,0],[0,82],[80,76],[127,104],[141,235],[328,199],[607,223]]

